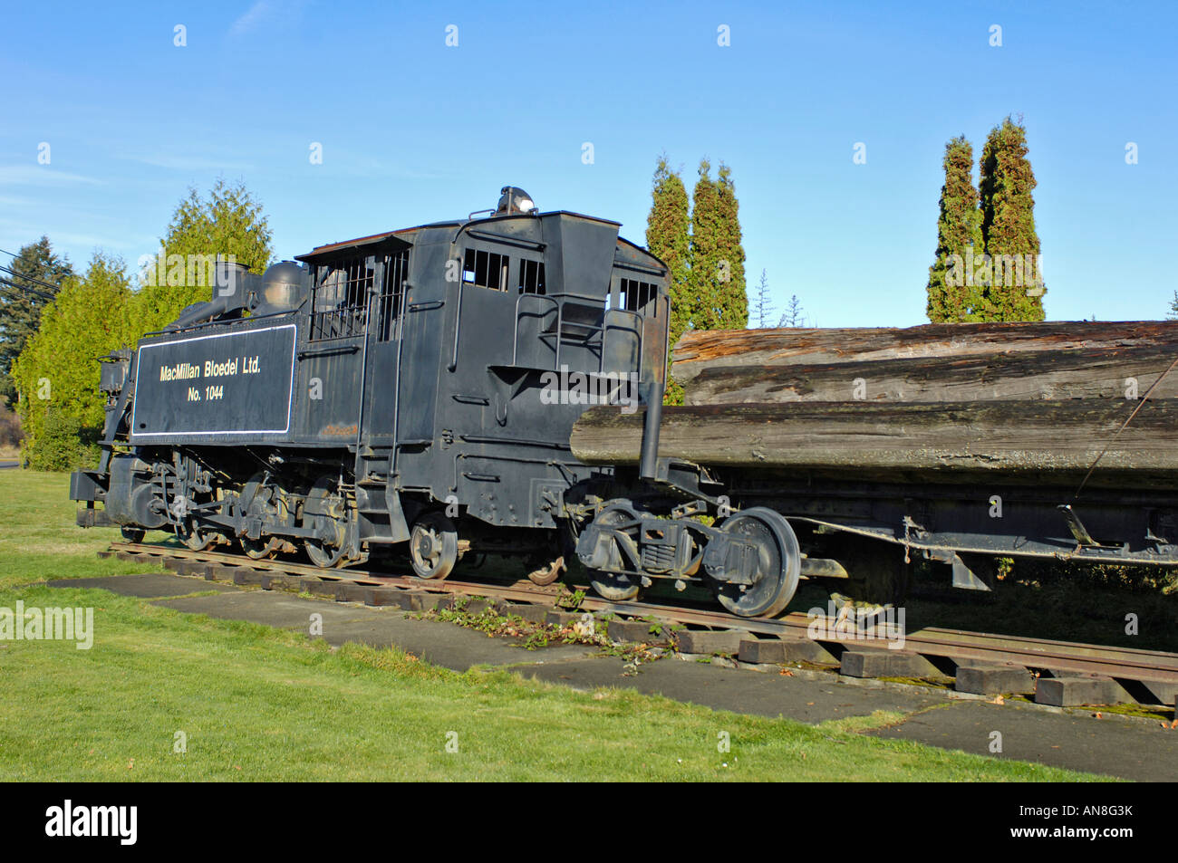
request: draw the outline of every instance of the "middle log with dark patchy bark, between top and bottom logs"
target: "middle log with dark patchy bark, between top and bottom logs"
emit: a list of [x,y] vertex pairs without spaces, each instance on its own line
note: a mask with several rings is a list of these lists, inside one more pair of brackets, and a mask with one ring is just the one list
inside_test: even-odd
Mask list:
[[[1178,346],[1118,346],[822,365],[722,365],[700,371],[684,403],[1125,399],[1144,396],[1176,357]],[[1178,370],[1162,378],[1152,398],[1178,398]]]

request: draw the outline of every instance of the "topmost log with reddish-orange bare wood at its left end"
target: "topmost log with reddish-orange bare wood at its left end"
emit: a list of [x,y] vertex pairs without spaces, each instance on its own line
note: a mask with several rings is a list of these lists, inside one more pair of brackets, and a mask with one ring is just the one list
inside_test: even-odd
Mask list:
[[688,331],[675,345],[671,374],[684,386],[704,369],[827,365],[891,359],[993,356],[1019,351],[1169,347],[1178,321],[926,324],[907,328]]

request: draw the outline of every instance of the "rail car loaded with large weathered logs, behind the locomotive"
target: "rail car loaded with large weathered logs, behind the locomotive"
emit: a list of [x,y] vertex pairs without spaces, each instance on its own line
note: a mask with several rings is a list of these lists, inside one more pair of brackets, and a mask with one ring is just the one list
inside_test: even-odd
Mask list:
[[[1174,321],[688,333],[687,406],[662,412],[659,450],[782,536],[800,558],[786,572],[846,576],[865,598],[896,599],[915,557],[968,590],[992,589],[1005,557],[1173,566],[1176,346]],[[630,463],[640,443],[641,417],[574,427],[590,464]],[[656,519],[631,524],[638,559]]]

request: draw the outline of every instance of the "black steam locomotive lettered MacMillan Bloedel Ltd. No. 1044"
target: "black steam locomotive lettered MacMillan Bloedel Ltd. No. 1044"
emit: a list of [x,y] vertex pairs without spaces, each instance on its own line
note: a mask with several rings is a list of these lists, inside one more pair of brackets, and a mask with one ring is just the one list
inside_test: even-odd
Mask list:
[[[577,562],[613,600],[662,580],[780,612],[805,558],[789,523],[728,511],[706,469],[657,454],[668,270],[618,227],[509,186],[494,211],[262,276],[219,265],[209,301],[104,358],[79,524],[322,567],[408,556],[423,579],[525,555],[532,580]],[[646,410],[636,469],[573,456],[600,403]]]

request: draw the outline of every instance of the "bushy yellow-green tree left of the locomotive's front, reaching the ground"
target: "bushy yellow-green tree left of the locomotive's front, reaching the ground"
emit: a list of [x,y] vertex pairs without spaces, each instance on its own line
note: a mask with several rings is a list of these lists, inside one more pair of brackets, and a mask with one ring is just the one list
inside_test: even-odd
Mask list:
[[[105,420],[95,357],[134,341],[124,263],[95,252],[84,278],[68,277],[13,365],[33,467],[66,470],[94,454]],[[79,440],[80,436],[80,440]],[[90,445],[87,445],[90,444]]]

